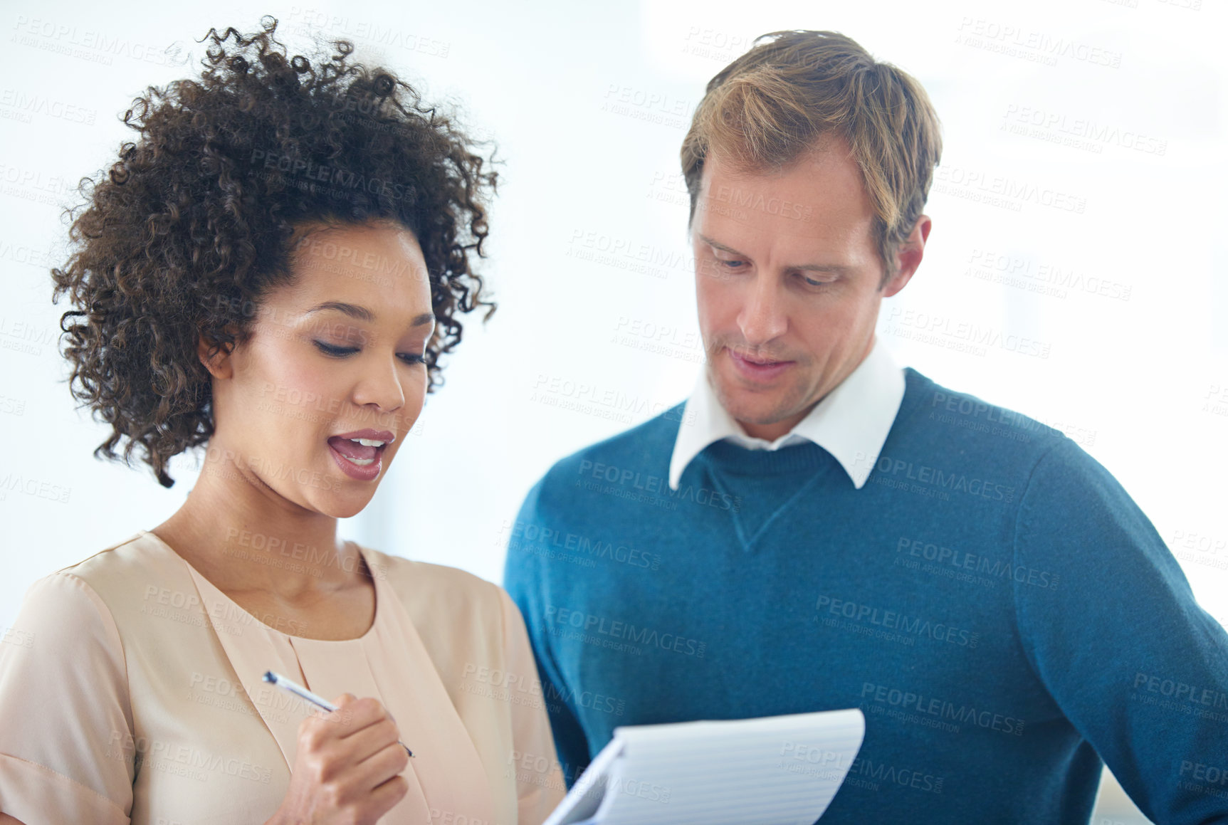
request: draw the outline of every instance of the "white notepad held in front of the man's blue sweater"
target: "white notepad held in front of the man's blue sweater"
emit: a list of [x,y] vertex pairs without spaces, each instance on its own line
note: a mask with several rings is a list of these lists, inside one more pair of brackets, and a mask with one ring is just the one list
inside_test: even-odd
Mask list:
[[810,825],[865,732],[856,708],[615,728],[545,825]]

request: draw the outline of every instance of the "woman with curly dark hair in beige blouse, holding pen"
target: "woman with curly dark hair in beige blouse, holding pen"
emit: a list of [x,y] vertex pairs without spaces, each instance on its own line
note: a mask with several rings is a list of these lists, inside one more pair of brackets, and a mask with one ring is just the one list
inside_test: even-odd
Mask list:
[[349,43],[287,56],[275,28],[211,29],[198,80],[134,102],[53,270],[96,454],[126,440],[171,486],[206,453],[171,518],[29,589],[0,823],[540,823],[562,796],[503,591],[336,538],[457,316],[494,309],[470,263],[495,176]]

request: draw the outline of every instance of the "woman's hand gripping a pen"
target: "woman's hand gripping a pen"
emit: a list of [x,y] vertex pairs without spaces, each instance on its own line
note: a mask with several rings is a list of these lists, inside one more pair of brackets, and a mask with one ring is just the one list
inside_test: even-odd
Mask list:
[[375,699],[341,694],[336,710],[298,724],[290,789],[266,825],[373,825],[400,802],[409,756]]

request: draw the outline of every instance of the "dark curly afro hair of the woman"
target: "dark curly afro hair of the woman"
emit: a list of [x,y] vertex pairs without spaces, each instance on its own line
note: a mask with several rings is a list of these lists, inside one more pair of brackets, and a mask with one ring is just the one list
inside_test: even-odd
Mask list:
[[139,138],[68,212],[74,249],[53,269],[60,351],[72,397],[108,422],[95,457],[131,453],[158,482],[171,457],[214,432],[211,351],[251,336],[262,296],[292,280],[295,227],[394,221],[426,260],[436,330],[426,346],[427,392],[438,358],[460,343],[457,316],[486,307],[470,265],[484,255],[496,174],[449,118],[393,72],[334,41],[314,59],[287,55],[278,21],[244,36],[210,28],[199,80],[150,86],[124,123]]

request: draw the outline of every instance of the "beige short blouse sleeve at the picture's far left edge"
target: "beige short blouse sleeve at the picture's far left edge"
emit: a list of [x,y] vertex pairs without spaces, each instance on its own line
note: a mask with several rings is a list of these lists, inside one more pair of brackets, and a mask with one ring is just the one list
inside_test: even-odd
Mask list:
[[119,631],[84,579],[31,586],[0,636],[0,811],[126,825],[135,743]]

